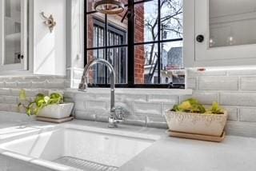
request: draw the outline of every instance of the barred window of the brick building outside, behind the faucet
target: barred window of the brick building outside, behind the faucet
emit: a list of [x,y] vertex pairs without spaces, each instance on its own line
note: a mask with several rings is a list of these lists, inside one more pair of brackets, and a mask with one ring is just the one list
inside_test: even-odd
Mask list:
[[[126,42],[126,32],[118,30],[114,26],[108,26],[108,44],[110,46],[118,46],[120,43]],[[104,45],[104,23],[94,19],[94,46]],[[94,50],[94,58],[105,58],[104,50]],[[126,83],[126,50],[122,48],[112,48],[107,50],[107,60],[114,66],[116,74],[116,83]],[[104,84],[106,79],[106,71],[102,66],[94,67],[94,82],[96,84]],[[109,78],[107,78],[109,82]]]

